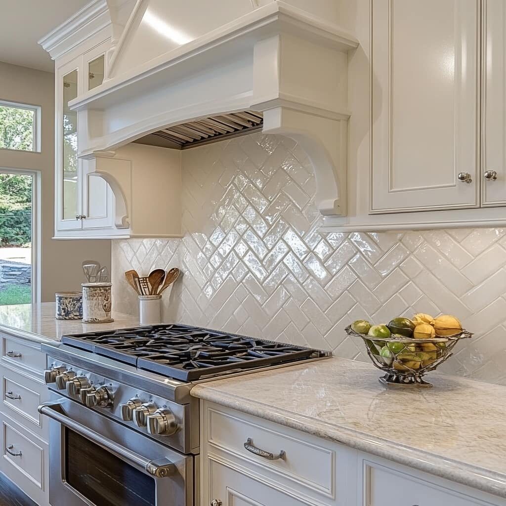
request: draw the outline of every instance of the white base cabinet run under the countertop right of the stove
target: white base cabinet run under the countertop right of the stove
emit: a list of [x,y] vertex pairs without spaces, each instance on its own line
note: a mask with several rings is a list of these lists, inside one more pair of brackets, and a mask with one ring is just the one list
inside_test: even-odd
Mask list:
[[[201,401],[200,418],[202,506],[506,506],[497,496],[211,402]],[[280,450],[282,458],[266,458]]]

